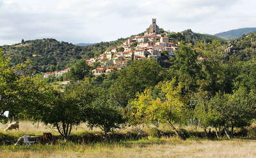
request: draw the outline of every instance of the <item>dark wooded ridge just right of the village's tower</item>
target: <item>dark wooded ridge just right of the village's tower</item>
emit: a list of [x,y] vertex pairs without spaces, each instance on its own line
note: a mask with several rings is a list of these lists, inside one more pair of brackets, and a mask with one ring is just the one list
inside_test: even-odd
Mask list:
[[204,41],[204,42],[211,42],[212,40],[218,40],[221,41],[221,43],[227,42],[225,39],[217,37],[217,36],[212,36],[209,34],[200,34],[191,31],[191,29],[182,31],[182,32],[171,32],[170,34],[167,35],[168,38],[173,38],[172,40],[174,42],[179,42],[179,41],[186,41],[186,43],[192,43],[195,45],[196,42],[198,41]]

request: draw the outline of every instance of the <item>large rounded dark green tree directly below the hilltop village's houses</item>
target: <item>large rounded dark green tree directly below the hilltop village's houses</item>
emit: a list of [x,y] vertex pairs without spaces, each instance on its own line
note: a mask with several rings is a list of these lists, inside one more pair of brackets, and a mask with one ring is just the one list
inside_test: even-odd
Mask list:
[[118,72],[118,78],[109,89],[109,94],[125,107],[137,92],[143,92],[147,87],[157,85],[164,78],[163,68],[154,60],[132,61]]

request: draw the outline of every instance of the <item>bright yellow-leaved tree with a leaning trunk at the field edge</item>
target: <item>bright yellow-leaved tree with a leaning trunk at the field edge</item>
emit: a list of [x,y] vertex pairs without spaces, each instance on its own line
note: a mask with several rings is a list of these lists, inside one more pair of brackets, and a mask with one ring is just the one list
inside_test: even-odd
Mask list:
[[180,137],[173,123],[182,120],[182,115],[186,113],[188,98],[182,96],[181,83],[179,85],[175,83],[176,79],[173,78],[172,81],[160,82],[156,86],[156,89],[164,94],[163,98],[155,98],[152,96],[152,89],[146,89],[131,102],[131,107],[135,109],[134,115],[138,118],[145,117],[145,120],[150,120],[150,122],[160,121],[170,124],[175,134]]

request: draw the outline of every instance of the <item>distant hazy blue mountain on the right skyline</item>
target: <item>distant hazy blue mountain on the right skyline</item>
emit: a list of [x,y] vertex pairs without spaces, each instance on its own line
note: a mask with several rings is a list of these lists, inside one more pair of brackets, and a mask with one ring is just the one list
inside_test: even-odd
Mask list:
[[243,34],[248,34],[250,32],[255,32],[255,31],[256,31],[256,27],[246,27],[246,28],[234,29],[226,32],[220,32],[218,34],[214,34],[214,36],[218,36],[224,39],[236,39],[236,38],[241,38]]

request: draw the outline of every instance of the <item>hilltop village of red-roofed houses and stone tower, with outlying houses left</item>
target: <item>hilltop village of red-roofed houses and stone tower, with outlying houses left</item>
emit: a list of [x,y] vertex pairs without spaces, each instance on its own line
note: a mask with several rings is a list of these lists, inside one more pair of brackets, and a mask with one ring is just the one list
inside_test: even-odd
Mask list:
[[[163,52],[168,56],[174,55],[174,50],[177,49],[176,43],[170,42],[168,37],[164,37],[160,33],[156,18],[152,18],[152,24],[143,36],[133,36],[124,41],[122,45],[88,59],[86,62],[88,66],[93,66],[94,62],[100,62],[101,66],[92,70],[93,75],[97,76],[122,69],[132,60],[141,61],[152,58],[159,60]],[[55,76],[61,76],[62,73],[67,73],[68,70],[57,71]],[[52,74],[54,73],[45,73],[44,78]]]

